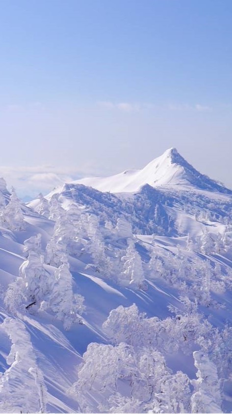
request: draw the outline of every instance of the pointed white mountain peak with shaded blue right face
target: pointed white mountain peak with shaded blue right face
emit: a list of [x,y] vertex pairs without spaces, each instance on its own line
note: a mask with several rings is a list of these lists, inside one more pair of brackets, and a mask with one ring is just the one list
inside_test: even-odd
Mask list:
[[231,194],[223,185],[201,174],[176,150],[170,148],[143,169],[126,170],[110,177],[83,178],[75,181],[100,191],[135,192],[144,185],[152,187],[195,187],[200,190]]

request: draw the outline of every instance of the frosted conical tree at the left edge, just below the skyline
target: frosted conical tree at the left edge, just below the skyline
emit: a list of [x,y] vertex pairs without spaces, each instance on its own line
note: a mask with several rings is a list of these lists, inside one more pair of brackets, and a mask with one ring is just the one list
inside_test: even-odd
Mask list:
[[10,201],[1,212],[1,223],[9,230],[24,230],[25,222],[21,202],[13,187]]

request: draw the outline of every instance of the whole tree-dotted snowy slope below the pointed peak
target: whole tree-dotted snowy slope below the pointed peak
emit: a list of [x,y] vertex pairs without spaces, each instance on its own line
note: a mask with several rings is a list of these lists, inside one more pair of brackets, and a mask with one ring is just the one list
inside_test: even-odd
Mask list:
[[230,194],[219,215],[152,191],[149,234],[143,191],[25,206],[1,184],[0,413],[232,411]]

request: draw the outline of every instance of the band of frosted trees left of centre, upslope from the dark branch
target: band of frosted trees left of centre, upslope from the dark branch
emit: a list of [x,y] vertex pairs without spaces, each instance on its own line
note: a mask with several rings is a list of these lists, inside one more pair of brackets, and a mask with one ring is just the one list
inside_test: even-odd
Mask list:
[[[142,260],[129,222],[119,218],[114,227],[110,222],[100,223],[95,214],[80,213],[75,204],[64,210],[55,197],[51,204],[50,218],[55,225],[46,247],[47,264],[57,267],[64,254],[73,255],[103,278],[131,288],[145,286]],[[120,248],[116,247],[115,243],[122,240]]]

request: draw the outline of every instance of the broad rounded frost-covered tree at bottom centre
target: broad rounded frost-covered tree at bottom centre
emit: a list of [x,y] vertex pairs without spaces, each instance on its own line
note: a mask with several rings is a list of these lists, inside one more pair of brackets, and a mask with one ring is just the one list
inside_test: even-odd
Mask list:
[[[135,309],[131,311],[136,314]],[[130,325],[127,334],[130,335]],[[139,341],[139,333],[137,339]],[[81,410],[104,413],[188,412],[188,377],[182,372],[173,375],[166,367],[164,356],[151,344],[146,347],[144,342],[138,342],[136,346],[120,342],[120,338],[118,341],[116,346],[92,343],[84,353],[77,382],[72,387]],[[96,392],[101,396],[100,404],[94,398]]]

